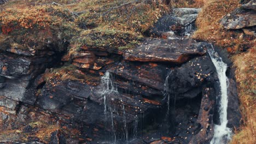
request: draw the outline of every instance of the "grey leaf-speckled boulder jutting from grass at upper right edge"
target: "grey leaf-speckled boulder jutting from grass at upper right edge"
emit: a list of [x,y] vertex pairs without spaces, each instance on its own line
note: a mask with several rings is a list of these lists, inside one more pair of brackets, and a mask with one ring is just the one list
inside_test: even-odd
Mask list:
[[256,25],[256,11],[237,8],[223,17],[220,24],[226,29],[240,29]]

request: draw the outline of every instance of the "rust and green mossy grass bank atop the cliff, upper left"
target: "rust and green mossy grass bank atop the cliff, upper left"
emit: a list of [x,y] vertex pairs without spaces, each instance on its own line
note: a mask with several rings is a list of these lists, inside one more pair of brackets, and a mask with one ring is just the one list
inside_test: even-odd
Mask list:
[[170,11],[160,0],[19,0],[10,1],[1,9],[2,49],[40,50],[51,41],[56,49],[70,44],[69,56],[84,45],[132,48],[144,31]]

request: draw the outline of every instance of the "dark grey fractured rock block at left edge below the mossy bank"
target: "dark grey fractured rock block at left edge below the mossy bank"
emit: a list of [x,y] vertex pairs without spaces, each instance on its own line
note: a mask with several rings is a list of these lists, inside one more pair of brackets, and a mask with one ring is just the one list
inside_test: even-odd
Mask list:
[[43,73],[49,65],[54,65],[55,58],[0,53],[0,75],[1,82],[4,82],[1,83],[1,96],[33,105],[37,91],[33,83],[34,78]]

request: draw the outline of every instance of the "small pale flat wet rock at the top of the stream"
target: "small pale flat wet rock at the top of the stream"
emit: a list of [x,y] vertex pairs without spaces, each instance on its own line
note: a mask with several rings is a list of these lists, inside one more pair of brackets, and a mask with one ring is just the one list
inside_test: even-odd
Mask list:
[[172,9],[172,15],[176,17],[182,17],[183,15],[198,14],[201,9],[195,8],[176,8]]

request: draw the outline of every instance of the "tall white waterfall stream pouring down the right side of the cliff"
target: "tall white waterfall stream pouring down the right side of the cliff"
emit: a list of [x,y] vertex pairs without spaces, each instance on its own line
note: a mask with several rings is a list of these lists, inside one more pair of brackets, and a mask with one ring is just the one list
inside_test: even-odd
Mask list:
[[214,136],[211,140],[211,144],[227,143],[232,135],[230,128],[226,127],[228,124],[228,78],[226,77],[226,69],[228,66],[222,61],[222,58],[218,56],[218,53],[214,52],[212,45],[207,51],[216,67],[221,92],[219,107],[220,125],[214,125]]

